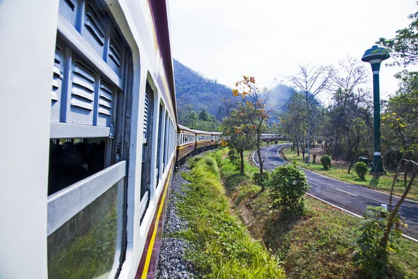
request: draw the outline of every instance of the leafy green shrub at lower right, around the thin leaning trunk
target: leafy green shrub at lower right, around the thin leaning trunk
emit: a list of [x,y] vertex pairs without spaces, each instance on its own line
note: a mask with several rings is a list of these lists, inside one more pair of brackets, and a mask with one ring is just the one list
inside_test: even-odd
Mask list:
[[368,206],[364,212],[364,219],[357,229],[357,251],[354,253],[355,266],[363,273],[364,278],[388,278],[389,249],[396,249],[396,243],[401,237],[401,219],[395,217],[394,227],[388,243],[389,247],[382,246],[382,237],[385,234],[388,212],[378,206]]

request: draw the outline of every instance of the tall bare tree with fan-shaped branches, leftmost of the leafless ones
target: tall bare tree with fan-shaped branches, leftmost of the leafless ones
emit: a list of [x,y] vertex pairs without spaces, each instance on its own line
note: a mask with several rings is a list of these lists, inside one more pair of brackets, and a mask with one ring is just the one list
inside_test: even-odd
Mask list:
[[299,72],[293,77],[289,77],[289,80],[295,86],[296,91],[300,91],[304,94],[304,101],[307,110],[307,130],[308,130],[308,165],[310,158],[310,129],[311,123],[311,110],[316,100],[316,96],[330,89],[333,70],[330,66],[299,66]]

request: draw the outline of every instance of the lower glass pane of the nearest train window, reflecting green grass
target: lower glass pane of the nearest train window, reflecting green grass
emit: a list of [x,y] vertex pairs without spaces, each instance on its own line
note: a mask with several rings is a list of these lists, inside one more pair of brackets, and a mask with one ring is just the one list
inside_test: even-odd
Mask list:
[[118,218],[123,218],[118,202],[123,202],[124,184],[125,179],[118,181],[48,237],[49,279],[107,278],[112,269],[115,274],[123,231],[121,225],[118,228]]

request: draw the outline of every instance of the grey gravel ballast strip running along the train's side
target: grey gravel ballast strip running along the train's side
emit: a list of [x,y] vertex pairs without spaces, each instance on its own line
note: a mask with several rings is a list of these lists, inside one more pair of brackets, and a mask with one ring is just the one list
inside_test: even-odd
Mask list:
[[187,221],[178,216],[176,207],[179,196],[185,195],[181,190],[182,184],[189,183],[181,176],[181,173],[187,172],[187,170],[187,165],[180,166],[178,171],[173,174],[173,180],[171,181],[171,193],[162,232],[157,278],[199,278],[192,264],[184,258],[186,250],[192,247],[186,241],[173,237],[174,233],[187,229]]

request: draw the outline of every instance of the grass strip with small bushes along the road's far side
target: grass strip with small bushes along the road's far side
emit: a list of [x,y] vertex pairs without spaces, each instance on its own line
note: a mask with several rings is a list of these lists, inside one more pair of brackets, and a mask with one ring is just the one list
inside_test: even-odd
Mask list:
[[[370,174],[366,174],[366,179],[363,181],[359,179],[357,174],[355,173],[354,167],[351,168],[350,174],[347,173],[348,167],[346,166],[332,166],[330,169],[323,169],[323,166],[320,165],[320,157],[316,158],[316,163],[311,163],[309,166],[306,163],[303,163],[302,160],[302,153],[300,156],[297,156],[296,151],[291,151],[291,149],[282,149],[285,158],[290,162],[297,162],[297,165],[300,167],[304,167],[305,169],[309,169],[313,172],[317,172],[318,174],[323,174],[325,176],[330,176],[334,179],[339,179],[341,181],[346,181],[348,183],[352,183],[359,186],[364,186],[367,188],[371,188],[373,190],[378,190],[383,193],[390,193],[390,188],[392,188],[392,181],[393,181],[393,173],[388,173],[387,175],[380,176],[379,179],[376,179],[375,176]],[[395,183],[394,194],[395,195],[402,195],[403,193],[403,179],[399,179],[398,182]],[[418,201],[418,180],[414,182],[410,193],[408,193],[408,199],[412,199]]]

